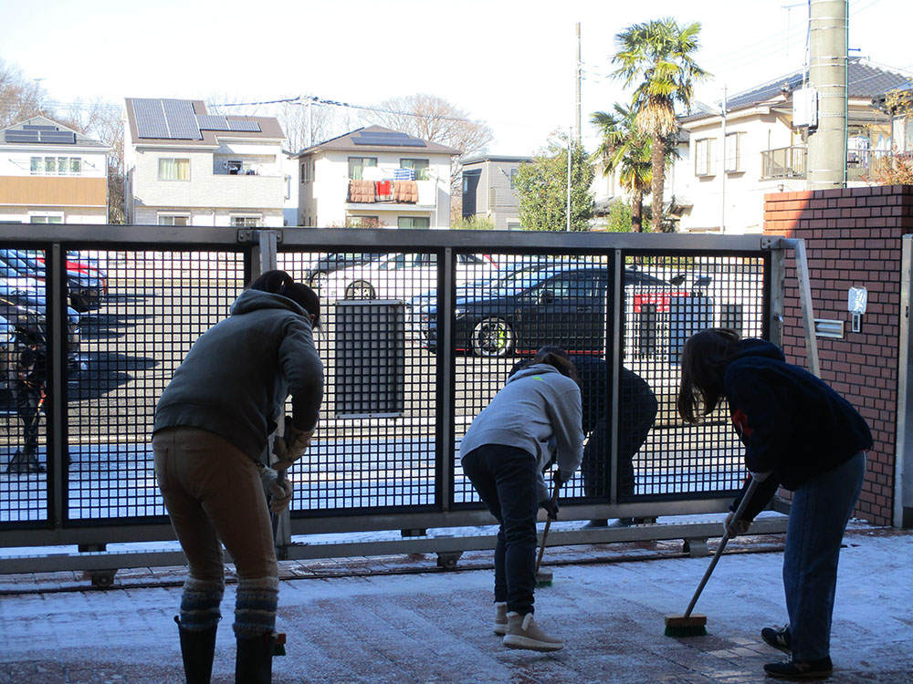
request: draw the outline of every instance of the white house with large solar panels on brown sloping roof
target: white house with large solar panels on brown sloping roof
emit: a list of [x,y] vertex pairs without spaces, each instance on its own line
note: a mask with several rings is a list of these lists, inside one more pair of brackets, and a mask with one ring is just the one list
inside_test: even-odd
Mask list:
[[283,225],[291,182],[278,119],[186,99],[127,98],[124,111],[127,223]]

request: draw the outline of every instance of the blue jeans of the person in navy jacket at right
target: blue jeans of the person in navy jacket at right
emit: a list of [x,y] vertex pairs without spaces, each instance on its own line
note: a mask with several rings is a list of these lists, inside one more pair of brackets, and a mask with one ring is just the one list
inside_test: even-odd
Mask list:
[[837,559],[846,523],[866,475],[866,454],[796,489],[783,554],[783,589],[790,616],[792,658],[828,658]]

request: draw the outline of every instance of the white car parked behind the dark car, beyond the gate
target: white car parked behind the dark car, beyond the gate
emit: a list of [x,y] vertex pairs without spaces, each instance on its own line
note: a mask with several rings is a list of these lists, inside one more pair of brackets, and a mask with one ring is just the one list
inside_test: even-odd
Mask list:
[[[457,254],[456,283],[467,283],[496,272],[491,261],[478,254]],[[437,285],[437,254],[384,254],[366,264],[329,275],[320,291],[329,301],[338,299],[407,300]]]

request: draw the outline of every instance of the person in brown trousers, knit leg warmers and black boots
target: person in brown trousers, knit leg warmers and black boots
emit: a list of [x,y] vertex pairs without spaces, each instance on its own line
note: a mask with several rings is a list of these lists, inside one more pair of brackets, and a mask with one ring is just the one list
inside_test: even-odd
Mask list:
[[[310,445],[323,397],[312,329],[320,299],[283,271],[261,275],[231,315],[200,336],[155,409],[155,475],[190,572],[181,637],[190,684],[208,683],[225,588],[222,544],[237,571],[236,681],[269,682],[278,605],[278,566],[269,512],[288,507],[278,478]],[[292,416],[261,461],[291,395]],[[269,493],[269,503],[264,492]]]

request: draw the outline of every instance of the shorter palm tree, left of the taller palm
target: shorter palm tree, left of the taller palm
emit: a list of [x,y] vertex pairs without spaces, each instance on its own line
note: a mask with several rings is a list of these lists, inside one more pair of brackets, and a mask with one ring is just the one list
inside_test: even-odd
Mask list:
[[652,145],[637,128],[633,109],[615,103],[614,114],[597,111],[590,119],[603,141],[593,157],[603,162],[603,173],[618,171],[618,180],[631,193],[631,223],[637,233],[644,230],[644,192],[653,180]]

